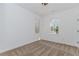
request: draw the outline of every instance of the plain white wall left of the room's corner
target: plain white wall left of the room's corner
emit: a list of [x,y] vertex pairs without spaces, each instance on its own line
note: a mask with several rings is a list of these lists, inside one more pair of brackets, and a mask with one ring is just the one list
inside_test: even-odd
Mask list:
[[[0,52],[36,41],[35,20],[40,17],[16,4],[0,5]],[[2,14],[1,14],[2,13]],[[3,35],[2,35],[3,34]]]

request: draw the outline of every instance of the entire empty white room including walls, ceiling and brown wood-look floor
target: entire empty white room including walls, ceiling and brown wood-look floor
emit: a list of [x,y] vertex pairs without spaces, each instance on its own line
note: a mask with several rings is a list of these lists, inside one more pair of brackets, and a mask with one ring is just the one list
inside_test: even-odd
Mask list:
[[79,3],[0,3],[0,56],[79,56]]

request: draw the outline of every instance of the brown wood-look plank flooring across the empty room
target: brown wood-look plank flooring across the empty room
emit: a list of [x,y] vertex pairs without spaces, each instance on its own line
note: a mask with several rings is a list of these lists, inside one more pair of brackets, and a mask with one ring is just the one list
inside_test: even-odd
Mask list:
[[38,40],[1,53],[0,56],[79,56],[79,48],[47,40]]

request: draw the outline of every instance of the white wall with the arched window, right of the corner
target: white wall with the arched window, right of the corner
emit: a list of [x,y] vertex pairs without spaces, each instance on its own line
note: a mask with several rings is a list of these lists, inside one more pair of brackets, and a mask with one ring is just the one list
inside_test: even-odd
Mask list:
[[[50,21],[53,18],[60,20],[59,34],[53,34],[50,32]],[[79,8],[73,8],[44,17],[41,38],[79,47],[79,44],[77,43],[77,41],[79,41],[79,33],[76,32],[77,29],[79,30],[79,22],[77,19],[79,19]]]

